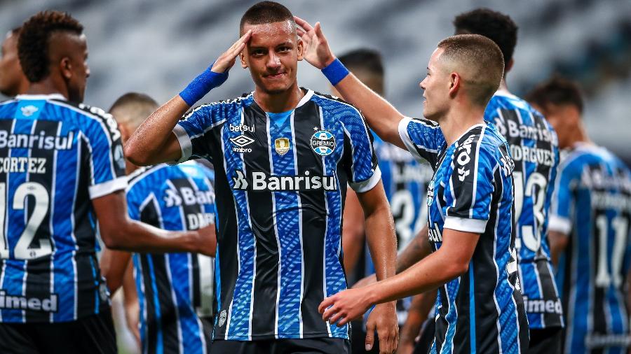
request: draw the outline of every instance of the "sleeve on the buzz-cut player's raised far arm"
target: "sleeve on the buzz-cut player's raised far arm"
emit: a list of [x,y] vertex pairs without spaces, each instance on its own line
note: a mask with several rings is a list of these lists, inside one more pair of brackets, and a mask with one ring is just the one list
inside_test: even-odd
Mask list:
[[405,117],[399,122],[399,136],[414,157],[427,160],[432,166],[436,164],[440,148],[445,146],[445,136],[431,120]]

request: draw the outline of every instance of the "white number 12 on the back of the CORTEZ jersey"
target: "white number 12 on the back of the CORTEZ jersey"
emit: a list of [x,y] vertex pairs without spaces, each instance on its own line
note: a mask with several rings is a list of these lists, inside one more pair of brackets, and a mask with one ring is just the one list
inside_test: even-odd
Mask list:
[[[53,253],[50,239],[42,239],[39,248],[29,248],[35,237],[39,225],[48,213],[48,191],[43,185],[35,182],[22,183],[13,195],[13,209],[23,210],[27,206],[27,197],[35,197],[35,207],[27,225],[22,231],[18,243],[13,249],[14,258],[17,260],[30,260]],[[6,183],[0,183],[0,259],[9,257],[8,239],[4,232],[6,223]]]

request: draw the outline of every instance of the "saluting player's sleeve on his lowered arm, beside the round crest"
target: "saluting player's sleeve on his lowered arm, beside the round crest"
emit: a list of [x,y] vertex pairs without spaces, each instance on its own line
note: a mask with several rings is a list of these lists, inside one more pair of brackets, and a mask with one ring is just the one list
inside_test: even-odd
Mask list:
[[372,134],[362,114],[355,108],[349,110],[344,120],[344,135],[351,148],[350,164],[346,167],[348,185],[355,192],[368,192],[381,180],[381,171],[372,145]]

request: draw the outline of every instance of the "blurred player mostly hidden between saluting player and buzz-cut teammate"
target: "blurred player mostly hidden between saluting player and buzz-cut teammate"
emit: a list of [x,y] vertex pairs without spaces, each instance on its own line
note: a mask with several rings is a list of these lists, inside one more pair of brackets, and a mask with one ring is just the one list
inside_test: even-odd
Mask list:
[[[384,95],[384,66],[381,55],[376,50],[360,48],[352,50],[339,57],[339,60],[352,71],[353,74],[377,94]],[[337,92],[333,92],[337,94]],[[433,171],[429,164],[420,163],[407,152],[391,143],[382,141],[373,134],[374,150],[379,158],[381,180],[384,183],[386,197],[390,203],[395,222],[397,246],[402,250],[407,246],[419,229],[426,224],[427,185],[432,178]],[[427,232],[425,232],[427,235]],[[361,277],[374,274],[374,265],[365,247],[365,228],[363,213],[355,193],[349,190],[346,194],[344,207],[344,230],[342,243],[344,246],[344,266],[346,274],[353,274],[351,269],[362,271]],[[362,255],[364,257],[360,257]],[[350,261],[349,261],[350,259]],[[360,264],[358,260],[361,260]],[[348,267],[350,265],[350,267]],[[355,268],[357,267],[357,268]],[[405,323],[407,309],[412,299],[397,302],[397,317],[399,325]],[[365,328],[361,321],[353,323],[353,351],[363,351],[366,332],[374,332],[372,328]],[[416,328],[416,334],[418,334]],[[372,331],[372,332],[371,332]],[[414,330],[412,330],[414,332]],[[416,337],[413,335],[412,340]],[[402,338],[401,338],[402,340]],[[376,350],[374,348],[373,350]]]

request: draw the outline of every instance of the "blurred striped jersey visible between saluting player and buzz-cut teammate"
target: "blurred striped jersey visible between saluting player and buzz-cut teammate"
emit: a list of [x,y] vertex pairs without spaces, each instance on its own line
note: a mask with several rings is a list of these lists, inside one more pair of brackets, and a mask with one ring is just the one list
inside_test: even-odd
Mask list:
[[[390,203],[397,248],[403,250],[414,239],[424,225],[427,225],[427,186],[434,171],[427,162],[419,162],[407,151],[391,143],[386,143],[374,135],[374,151],[379,158],[381,180],[384,182],[386,197]],[[374,274],[374,264],[365,247],[366,276]],[[397,317],[403,325],[412,298],[397,302]],[[368,313],[365,315],[367,319]]]

